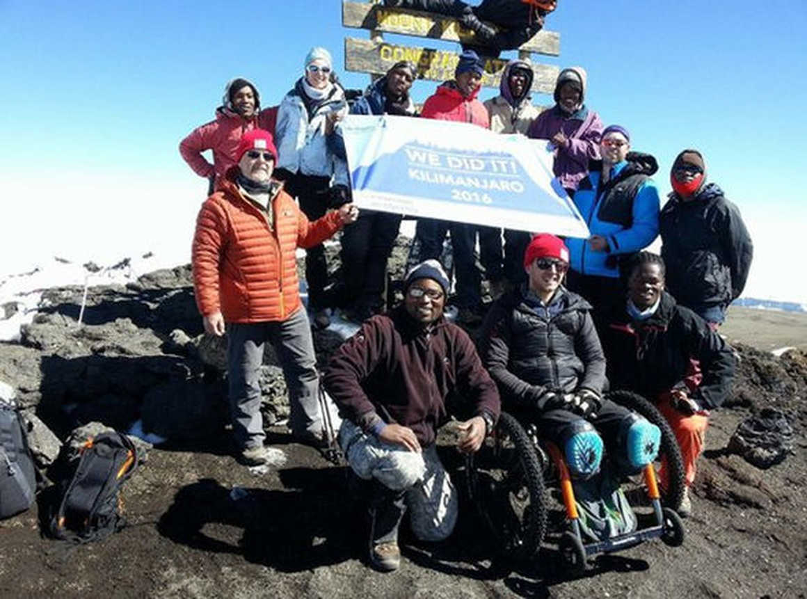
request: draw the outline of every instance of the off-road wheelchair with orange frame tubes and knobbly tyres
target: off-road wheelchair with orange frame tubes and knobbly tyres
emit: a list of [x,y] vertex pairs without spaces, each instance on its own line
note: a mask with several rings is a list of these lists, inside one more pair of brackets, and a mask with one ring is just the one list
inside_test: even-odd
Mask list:
[[[503,412],[479,452],[467,456],[464,478],[480,519],[506,558],[529,560],[546,540],[557,545],[568,568],[580,572],[589,557],[621,551],[650,538],[661,538],[671,547],[684,542],[684,526],[675,513],[684,496],[684,465],[675,435],[659,410],[642,396],[617,391],[606,397],[661,431],[654,463],[638,474],[619,478],[636,516],[635,530],[586,542],[562,451],[539,439],[534,425],[522,425]],[[664,487],[659,484],[659,467],[665,471]]]

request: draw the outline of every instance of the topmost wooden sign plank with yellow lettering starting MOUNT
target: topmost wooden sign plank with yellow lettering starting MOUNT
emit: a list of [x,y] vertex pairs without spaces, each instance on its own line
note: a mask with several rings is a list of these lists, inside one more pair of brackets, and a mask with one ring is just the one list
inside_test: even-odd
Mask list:
[[[451,17],[420,10],[385,8],[380,4],[366,2],[342,2],[342,25],[454,42],[470,42],[474,39],[474,34],[470,30],[462,27]],[[496,28],[495,25],[491,27]],[[522,52],[557,57],[560,55],[560,34],[557,31],[538,31],[537,35],[520,49]]]

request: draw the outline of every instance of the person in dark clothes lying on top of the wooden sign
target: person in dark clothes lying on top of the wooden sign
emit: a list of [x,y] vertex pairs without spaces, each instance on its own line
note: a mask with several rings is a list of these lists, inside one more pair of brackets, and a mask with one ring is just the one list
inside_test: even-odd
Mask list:
[[470,6],[462,0],[384,0],[384,5],[454,17],[462,27],[474,32],[473,40],[463,41],[463,50],[498,57],[502,50],[515,50],[541,31],[546,15],[557,8],[558,2],[482,0],[479,6]]

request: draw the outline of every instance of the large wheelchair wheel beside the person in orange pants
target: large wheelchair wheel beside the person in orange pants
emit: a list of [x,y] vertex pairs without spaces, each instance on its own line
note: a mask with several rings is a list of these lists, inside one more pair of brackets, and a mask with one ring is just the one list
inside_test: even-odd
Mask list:
[[684,499],[684,459],[681,458],[681,450],[678,441],[675,439],[670,424],[663,417],[653,404],[637,393],[629,391],[614,391],[605,396],[616,404],[625,406],[639,416],[645,417],[647,421],[661,429],[661,447],[659,457],[656,459],[656,471],[661,463],[665,464],[667,470],[667,488],[662,491],[662,505],[671,509],[678,509],[681,500]]

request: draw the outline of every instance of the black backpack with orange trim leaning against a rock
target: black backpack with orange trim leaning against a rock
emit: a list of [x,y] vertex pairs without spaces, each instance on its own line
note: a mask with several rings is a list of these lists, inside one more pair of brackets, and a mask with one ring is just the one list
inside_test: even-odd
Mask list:
[[137,467],[137,450],[126,435],[102,433],[87,440],[59,512],[51,520],[56,538],[98,541],[126,526],[119,491]]

